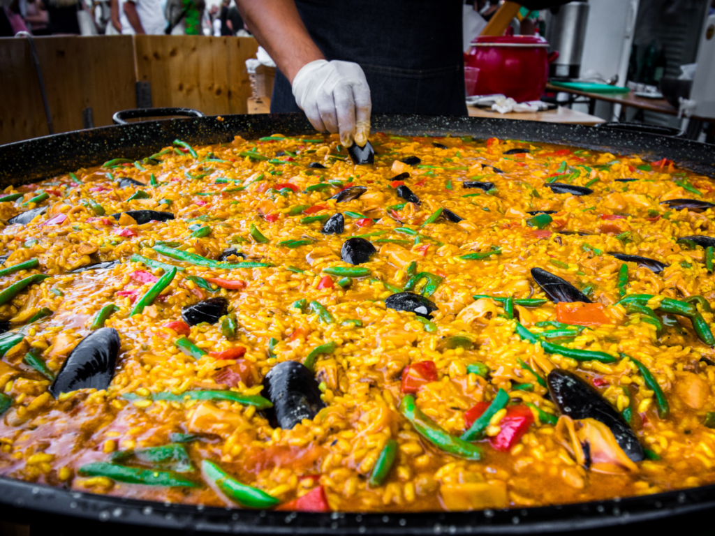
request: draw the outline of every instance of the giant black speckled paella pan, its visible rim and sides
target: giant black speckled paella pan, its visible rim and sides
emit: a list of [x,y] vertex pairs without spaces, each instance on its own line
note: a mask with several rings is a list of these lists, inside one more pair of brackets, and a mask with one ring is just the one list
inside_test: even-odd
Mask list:
[[[403,135],[499,137],[551,142],[613,154],[638,154],[647,160],[673,159],[682,167],[715,177],[713,146],[677,137],[598,129],[580,125],[546,124],[511,119],[429,116],[373,116],[373,131]],[[300,114],[200,117],[147,121],[123,126],[56,134],[0,147],[0,187],[45,179],[112,158],[146,157],[181,138],[194,144],[247,139],[275,133],[312,134]],[[425,514],[306,514],[251,512],[222,508],[167,505],[70,492],[61,488],[0,478],[0,518],[44,521],[45,530],[69,533],[83,523],[103,523],[104,535],[155,536],[164,531],[242,534],[516,534],[574,530],[634,530],[663,532],[703,530],[699,521],[715,511],[715,485],[623,500],[576,505]],[[41,514],[41,515],[38,515]],[[48,521],[49,520],[49,521]],[[62,520],[67,525],[62,526]],[[69,521],[67,521],[69,520]],[[49,523],[49,525],[48,525]],[[633,525],[638,525],[634,527]],[[127,527],[132,525],[132,528]],[[87,525],[84,525],[87,527]],[[141,527],[141,528],[140,528]],[[677,527],[677,528],[676,528]],[[689,530],[687,527],[691,527]],[[58,530],[59,529],[59,530]],[[139,531],[139,532],[137,532]],[[44,531],[43,531],[44,532]],[[47,532],[49,533],[49,532]]]

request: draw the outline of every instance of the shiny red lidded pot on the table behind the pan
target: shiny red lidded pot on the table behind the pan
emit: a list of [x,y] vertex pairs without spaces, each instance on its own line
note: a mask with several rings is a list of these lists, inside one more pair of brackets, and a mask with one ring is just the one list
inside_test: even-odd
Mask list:
[[546,53],[541,36],[479,36],[472,41],[465,66],[477,67],[477,95],[501,93],[517,102],[541,99],[548,81],[548,64],[558,52]]

